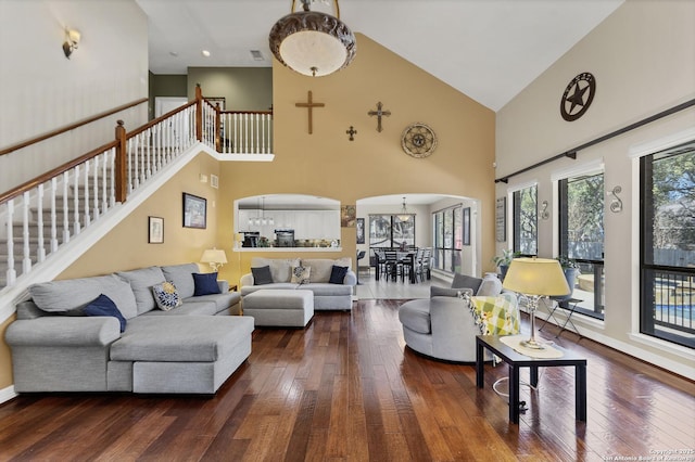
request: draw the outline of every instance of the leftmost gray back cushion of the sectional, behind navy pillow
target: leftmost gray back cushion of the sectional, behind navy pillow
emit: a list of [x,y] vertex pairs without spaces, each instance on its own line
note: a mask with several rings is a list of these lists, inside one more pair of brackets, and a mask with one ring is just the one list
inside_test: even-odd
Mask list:
[[29,294],[41,310],[60,313],[81,312],[90,301],[104,294],[126,319],[138,316],[130,284],[113,274],[41,282],[30,285]]

